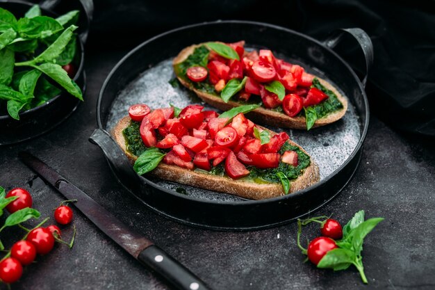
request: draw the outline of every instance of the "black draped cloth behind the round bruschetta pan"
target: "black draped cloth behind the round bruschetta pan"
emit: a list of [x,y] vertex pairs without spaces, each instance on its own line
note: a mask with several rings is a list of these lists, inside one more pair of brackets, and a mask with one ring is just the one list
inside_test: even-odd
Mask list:
[[[372,111],[393,127],[434,137],[434,7],[433,0],[95,0],[88,49],[133,47],[158,33],[217,19],[268,22],[319,40],[334,29],[359,27],[375,47],[367,87]],[[348,43],[338,52],[363,73],[363,56]]]

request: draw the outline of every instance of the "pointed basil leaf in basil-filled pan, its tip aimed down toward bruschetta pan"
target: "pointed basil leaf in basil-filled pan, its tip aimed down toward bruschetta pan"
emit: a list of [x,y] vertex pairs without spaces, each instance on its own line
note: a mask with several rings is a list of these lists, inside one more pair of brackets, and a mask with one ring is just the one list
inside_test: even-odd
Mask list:
[[60,86],[65,88],[74,97],[77,97],[83,101],[83,95],[80,88],[74,83],[72,79],[69,79],[67,72],[60,66],[54,63],[42,63],[41,65],[32,65],[36,69],[40,70],[44,74],[47,74],[51,79],[56,81]]

